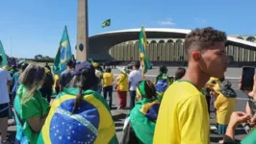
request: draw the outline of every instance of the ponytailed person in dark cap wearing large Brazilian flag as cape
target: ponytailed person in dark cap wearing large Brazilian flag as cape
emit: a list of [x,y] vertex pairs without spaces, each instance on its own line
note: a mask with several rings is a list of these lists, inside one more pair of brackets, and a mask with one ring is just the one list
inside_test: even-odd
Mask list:
[[81,62],[73,79],[54,100],[38,143],[117,144],[109,106],[96,92],[98,78],[90,62]]

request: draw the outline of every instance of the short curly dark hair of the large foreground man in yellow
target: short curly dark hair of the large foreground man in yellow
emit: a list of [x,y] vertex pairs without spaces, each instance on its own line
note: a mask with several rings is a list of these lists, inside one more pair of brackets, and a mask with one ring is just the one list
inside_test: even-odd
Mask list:
[[188,51],[192,46],[197,46],[197,49],[206,50],[210,46],[214,45],[214,42],[225,42],[227,36],[224,32],[218,31],[212,27],[206,27],[202,29],[194,29],[185,38],[185,50],[188,55]]

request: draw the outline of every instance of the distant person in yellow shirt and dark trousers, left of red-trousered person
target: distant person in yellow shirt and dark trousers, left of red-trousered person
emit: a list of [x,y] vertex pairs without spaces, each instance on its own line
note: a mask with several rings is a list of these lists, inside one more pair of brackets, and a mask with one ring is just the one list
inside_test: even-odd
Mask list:
[[102,78],[103,78],[103,96],[104,96],[104,99],[107,101],[107,95],[109,95],[109,106],[110,108],[112,108],[114,76],[111,73],[111,68],[106,69],[106,72],[103,73]]

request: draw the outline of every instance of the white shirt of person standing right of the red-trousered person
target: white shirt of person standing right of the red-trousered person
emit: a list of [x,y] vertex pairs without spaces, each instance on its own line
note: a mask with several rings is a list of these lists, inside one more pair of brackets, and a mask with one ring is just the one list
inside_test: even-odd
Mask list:
[[141,69],[139,70],[133,70],[129,74],[129,82],[130,84],[130,90],[135,91],[137,88],[137,84],[142,80],[142,72]]

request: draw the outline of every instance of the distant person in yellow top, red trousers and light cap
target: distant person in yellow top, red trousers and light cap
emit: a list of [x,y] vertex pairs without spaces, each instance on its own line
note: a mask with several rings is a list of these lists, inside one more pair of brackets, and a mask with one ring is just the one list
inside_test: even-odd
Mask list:
[[126,103],[127,103],[127,91],[128,91],[128,86],[129,86],[129,81],[128,81],[128,72],[125,67],[119,68],[117,67],[121,73],[119,76],[116,78],[116,85],[115,89],[117,92],[117,96],[119,98],[119,109],[126,108]]

